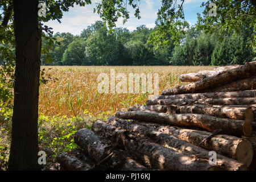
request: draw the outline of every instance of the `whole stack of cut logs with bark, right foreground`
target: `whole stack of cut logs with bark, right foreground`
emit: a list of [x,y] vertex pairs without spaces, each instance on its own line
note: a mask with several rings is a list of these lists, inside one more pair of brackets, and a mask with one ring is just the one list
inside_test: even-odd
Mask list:
[[57,162],[86,171],[256,169],[256,61],[200,74],[182,75],[191,83],[77,131],[79,148]]

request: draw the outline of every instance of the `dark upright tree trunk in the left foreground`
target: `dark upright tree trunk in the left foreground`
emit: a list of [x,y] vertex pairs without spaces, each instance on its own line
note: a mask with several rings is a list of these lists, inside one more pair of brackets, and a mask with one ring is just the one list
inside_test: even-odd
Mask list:
[[38,0],[14,0],[16,68],[9,170],[38,169]]

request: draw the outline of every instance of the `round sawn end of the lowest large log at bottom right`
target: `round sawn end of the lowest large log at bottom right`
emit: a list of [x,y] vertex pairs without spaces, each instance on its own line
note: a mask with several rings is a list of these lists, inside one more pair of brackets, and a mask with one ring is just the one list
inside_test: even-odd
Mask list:
[[253,161],[253,147],[248,140],[243,140],[237,145],[236,159],[247,167]]

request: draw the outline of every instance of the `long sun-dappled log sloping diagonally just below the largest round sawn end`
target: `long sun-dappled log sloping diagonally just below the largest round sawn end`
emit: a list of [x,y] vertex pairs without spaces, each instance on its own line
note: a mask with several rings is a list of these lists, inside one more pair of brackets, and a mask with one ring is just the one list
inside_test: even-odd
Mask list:
[[[209,151],[205,150],[204,148],[195,146],[191,143],[186,142],[185,140],[181,140],[179,138],[164,134],[160,131],[154,130],[151,127],[145,127],[142,125],[137,125],[131,122],[126,121],[125,119],[119,119],[116,117],[109,117],[107,119],[107,123],[109,125],[115,126],[117,128],[122,128],[134,133],[134,135],[139,135],[141,137],[148,137],[158,144],[162,146],[168,146],[172,148],[177,148],[180,152],[183,152],[188,155],[199,155],[200,158],[209,159]],[[94,122],[93,127],[101,128],[104,127],[105,123],[97,121]],[[252,159],[252,156],[251,156]],[[232,160],[225,156],[217,154],[216,159],[217,165],[226,168],[229,171],[237,171],[237,170],[246,170],[246,166],[241,163],[237,162],[237,160]]]

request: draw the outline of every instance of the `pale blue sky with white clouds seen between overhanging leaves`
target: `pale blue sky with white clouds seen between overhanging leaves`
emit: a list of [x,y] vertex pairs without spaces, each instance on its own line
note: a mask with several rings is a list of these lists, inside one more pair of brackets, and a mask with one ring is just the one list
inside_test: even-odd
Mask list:
[[[73,35],[79,35],[84,28],[90,26],[96,20],[101,20],[97,13],[93,13],[93,8],[96,7],[96,3],[100,0],[92,0],[91,5],[85,5],[84,7],[74,6],[69,9],[68,12],[63,13],[63,18],[61,23],[57,20],[49,21],[46,23],[47,26],[53,28],[53,32],[71,32]],[[195,24],[197,22],[196,13],[202,13],[204,7],[200,7],[202,0],[185,0],[183,3],[185,19],[191,23]],[[177,0],[177,3],[181,3]],[[144,24],[148,28],[155,26],[156,13],[161,6],[161,0],[141,0],[139,2],[139,9],[141,11],[141,19],[137,19],[134,16],[134,10],[129,8],[130,18],[125,24],[122,23],[122,19],[117,22],[117,27],[126,27],[130,31],[136,29],[136,27]]]

